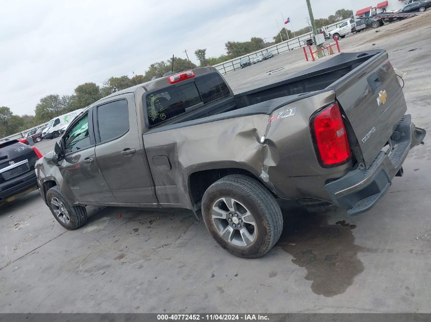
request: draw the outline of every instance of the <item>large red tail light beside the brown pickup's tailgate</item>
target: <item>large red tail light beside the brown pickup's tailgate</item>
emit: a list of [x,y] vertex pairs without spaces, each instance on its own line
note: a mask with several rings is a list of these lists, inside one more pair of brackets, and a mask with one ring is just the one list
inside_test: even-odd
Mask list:
[[337,103],[313,115],[311,128],[321,166],[333,167],[350,160],[346,127]]

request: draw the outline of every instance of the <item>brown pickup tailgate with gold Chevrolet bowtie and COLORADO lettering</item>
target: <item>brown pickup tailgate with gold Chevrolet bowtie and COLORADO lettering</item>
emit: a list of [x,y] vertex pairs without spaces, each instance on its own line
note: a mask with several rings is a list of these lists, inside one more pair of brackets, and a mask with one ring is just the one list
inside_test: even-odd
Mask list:
[[386,51],[332,84],[368,168],[407,111]]

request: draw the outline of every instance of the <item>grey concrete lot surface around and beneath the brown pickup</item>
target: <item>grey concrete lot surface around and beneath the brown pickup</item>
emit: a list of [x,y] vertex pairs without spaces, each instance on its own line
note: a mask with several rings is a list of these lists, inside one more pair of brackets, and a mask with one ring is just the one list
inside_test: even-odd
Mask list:
[[[408,112],[429,136],[431,13],[377,31],[346,37],[342,50],[387,49]],[[295,50],[226,79],[238,92],[311,64]],[[426,141],[365,214],[284,203],[281,240],[253,260],[223,251],[184,210],[107,208],[66,231],[35,191],[0,208],[0,311],[431,312]]]

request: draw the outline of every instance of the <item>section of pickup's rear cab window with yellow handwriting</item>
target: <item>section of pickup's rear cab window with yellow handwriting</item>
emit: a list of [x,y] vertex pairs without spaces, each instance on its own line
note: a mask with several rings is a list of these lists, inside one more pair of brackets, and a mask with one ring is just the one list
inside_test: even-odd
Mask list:
[[189,82],[148,93],[145,96],[144,106],[147,109],[149,125],[155,126],[185,113],[186,108],[201,102],[195,83]]

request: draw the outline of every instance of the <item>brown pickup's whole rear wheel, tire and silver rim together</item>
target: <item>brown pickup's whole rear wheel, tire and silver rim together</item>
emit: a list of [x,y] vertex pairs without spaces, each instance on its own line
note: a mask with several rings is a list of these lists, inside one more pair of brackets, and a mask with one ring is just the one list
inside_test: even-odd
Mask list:
[[243,258],[267,253],[283,230],[282,211],[274,196],[259,181],[241,174],[227,175],[207,189],[202,216],[215,241]]

